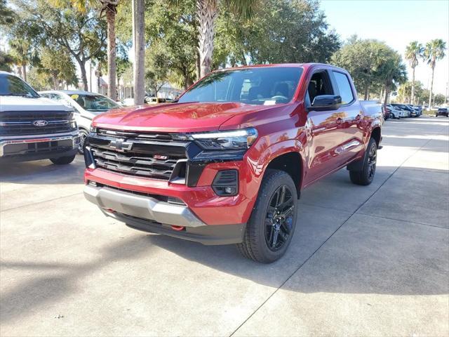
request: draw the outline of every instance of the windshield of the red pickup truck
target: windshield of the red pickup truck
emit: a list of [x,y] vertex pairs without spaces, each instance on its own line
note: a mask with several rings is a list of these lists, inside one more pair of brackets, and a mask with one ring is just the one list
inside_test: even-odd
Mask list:
[[208,75],[179,102],[241,102],[253,105],[288,103],[302,74],[300,67],[225,70]]

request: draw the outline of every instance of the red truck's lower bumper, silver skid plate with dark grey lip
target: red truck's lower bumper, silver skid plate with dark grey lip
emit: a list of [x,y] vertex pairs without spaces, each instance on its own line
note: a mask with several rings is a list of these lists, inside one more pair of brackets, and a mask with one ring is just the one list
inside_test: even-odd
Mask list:
[[201,244],[236,244],[243,240],[244,224],[206,225],[187,206],[91,185],[86,185],[84,195],[88,201],[99,206],[105,215],[123,221],[136,230]]

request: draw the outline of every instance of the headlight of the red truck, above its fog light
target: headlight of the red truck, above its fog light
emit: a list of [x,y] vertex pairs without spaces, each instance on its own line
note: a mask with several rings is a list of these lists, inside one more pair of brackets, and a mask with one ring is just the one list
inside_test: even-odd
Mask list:
[[255,142],[257,130],[242,128],[233,131],[191,133],[189,136],[204,150],[243,150],[248,149]]

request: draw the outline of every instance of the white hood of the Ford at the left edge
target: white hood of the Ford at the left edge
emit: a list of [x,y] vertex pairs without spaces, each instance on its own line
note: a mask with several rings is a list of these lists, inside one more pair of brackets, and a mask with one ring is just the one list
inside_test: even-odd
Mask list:
[[26,98],[20,96],[0,96],[0,112],[3,111],[72,111],[67,107],[48,98]]

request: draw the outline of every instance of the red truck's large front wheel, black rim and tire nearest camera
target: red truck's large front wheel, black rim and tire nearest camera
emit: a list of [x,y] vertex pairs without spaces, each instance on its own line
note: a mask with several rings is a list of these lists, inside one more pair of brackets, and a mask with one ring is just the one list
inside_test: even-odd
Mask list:
[[[284,206],[279,211],[275,205],[282,195]],[[286,253],[295,232],[296,210],[297,192],[292,178],[284,171],[267,170],[253,213],[246,224],[243,242],[236,245],[237,249],[246,258],[260,263],[279,260]],[[278,212],[284,213],[285,220]]]

